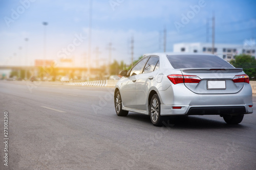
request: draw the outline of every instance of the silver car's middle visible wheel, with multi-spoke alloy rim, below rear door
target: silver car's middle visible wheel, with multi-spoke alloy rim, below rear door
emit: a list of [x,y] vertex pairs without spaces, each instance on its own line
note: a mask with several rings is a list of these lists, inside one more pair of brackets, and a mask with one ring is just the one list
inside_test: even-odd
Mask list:
[[157,94],[152,96],[150,102],[150,119],[154,126],[162,126],[163,117],[161,116],[161,103]]

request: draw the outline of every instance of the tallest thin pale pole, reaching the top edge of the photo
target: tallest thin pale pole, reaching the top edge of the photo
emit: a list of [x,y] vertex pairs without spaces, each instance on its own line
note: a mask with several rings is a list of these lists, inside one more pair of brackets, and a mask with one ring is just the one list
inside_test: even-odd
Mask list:
[[91,41],[92,41],[92,0],[89,0],[89,34],[88,34],[88,80],[91,75]]

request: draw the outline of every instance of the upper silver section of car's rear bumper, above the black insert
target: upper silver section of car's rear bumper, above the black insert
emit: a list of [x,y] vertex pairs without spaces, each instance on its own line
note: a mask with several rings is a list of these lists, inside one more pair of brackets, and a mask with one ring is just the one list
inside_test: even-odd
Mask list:
[[249,84],[237,93],[197,94],[183,84],[176,84],[158,91],[161,104],[164,105],[244,105],[252,103],[252,90]]

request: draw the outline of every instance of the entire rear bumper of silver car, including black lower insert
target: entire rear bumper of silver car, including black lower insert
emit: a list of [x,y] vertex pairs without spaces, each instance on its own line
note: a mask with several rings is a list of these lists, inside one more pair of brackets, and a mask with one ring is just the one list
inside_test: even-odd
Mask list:
[[[204,114],[246,114],[252,113],[252,91],[249,84],[237,93],[197,94],[183,84],[158,91],[161,101],[161,115],[204,115]],[[181,107],[181,109],[173,109]]]

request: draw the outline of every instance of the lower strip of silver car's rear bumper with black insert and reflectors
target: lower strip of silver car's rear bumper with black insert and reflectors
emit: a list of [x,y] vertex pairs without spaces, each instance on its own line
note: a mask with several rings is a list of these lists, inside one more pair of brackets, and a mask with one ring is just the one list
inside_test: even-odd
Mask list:
[[[238,115],[253,112],[252,104],[245,105],[161,105],[161,115]],[[181,107],[181,109],[173,109]]]

